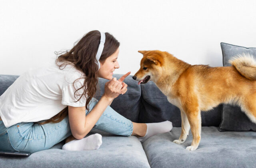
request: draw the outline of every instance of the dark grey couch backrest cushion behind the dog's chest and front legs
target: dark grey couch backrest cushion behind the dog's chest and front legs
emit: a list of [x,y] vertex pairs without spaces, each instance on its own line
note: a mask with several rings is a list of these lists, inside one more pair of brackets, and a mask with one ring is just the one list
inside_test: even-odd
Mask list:
[[[141,84],[142,105],[139,122],[162,122],[169,120],[173,126],[181,126],[180,109],[168,102],[167,97],[154,82]],[[221,121],[221,105],[202,112],[202,126],[219,126]]]

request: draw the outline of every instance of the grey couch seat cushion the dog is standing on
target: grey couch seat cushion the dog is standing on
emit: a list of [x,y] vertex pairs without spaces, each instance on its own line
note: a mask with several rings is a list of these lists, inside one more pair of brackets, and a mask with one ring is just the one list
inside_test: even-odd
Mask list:
[[152,168],[169,167],[255,167],[256,132],[219,132],[217,127],[202,127],[197,150],[188,151],[191,130],[184,144],[172,142],[179,138],[181,127],[148,138],[142,145]]

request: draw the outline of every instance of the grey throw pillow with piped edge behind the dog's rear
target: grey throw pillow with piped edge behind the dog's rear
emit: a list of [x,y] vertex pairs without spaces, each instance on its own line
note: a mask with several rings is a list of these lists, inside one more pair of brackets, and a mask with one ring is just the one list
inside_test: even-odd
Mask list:
[[[256,48],[246,48],[235,46],[227,43],[220,43],[222,49],[223,66],[231,66],[228,62],[230,58],[237,54],[248,53],[256,58]],[[256,103],[256,102],[255,102]],[[219,126],[219,131],[256,131],[256,124],[242,112],[239,106],[223,104],[222,106],[222,121]]]

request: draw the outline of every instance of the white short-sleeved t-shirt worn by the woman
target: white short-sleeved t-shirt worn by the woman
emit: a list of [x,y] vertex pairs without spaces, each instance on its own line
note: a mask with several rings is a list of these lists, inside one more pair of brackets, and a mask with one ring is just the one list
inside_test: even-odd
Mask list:
[[4,126],[47,120],[67,106],[85,106],[84,95],[75,102],[85,87],[76,92],[77,99],[74,97],[74,92],[84,84],[82,78],[73,86],[80,77],[85,77],[85,74],[73,65],[66,65],[60,70],[54,61],[47,67],[30,68],[0,96],[0,116]]

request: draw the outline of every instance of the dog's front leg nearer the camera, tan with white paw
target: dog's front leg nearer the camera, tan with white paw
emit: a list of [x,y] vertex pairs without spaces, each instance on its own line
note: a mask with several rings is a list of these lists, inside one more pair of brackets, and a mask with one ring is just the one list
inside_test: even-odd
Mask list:
[[188,146],[186,150],[196,150],[201,140],[201,112],[200,110],[188,110],[186,115],[193,135],[191,146]]

